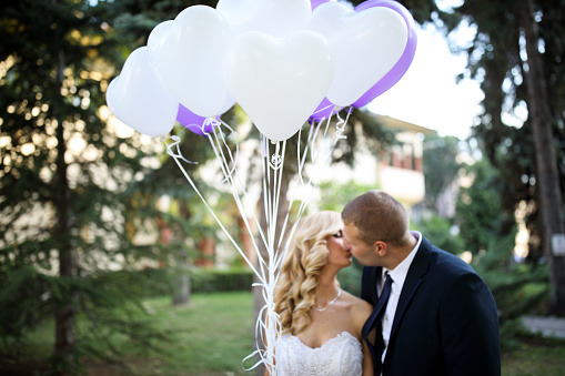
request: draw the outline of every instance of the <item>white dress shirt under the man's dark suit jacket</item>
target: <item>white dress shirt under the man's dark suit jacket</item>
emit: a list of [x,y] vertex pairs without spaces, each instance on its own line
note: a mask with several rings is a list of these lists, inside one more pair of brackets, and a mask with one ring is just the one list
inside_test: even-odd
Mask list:
[[[412,234],[417,238],[416,246],[410,252],[410,254],[404,258],[394,270],[390,271],[383,267],[383,277],[384,273],[389,273],[392,278],[391,286],[391,295],[389,296],[389,303],[386,305],[386,311],[383,316],[383,339],[384,339],[384,350],[383,357],[381,362],[384,362],[384,356],[386,355],[386,348],[389,347],[389,339],[391,338],[391,329],[392,323],[394,321],[394,313],[396,312],[396,306],[398,305],[398,298],[401,297],[402,286],[404,286],[404,281],[406,280],[406,275],[408,274],[410,265],[416,255],[417,248],[422,243],[422,234],[417,231],[413,231]],[[384,280],[381,281],[381,285]],[[377,286],[379,292],[381,288]]]

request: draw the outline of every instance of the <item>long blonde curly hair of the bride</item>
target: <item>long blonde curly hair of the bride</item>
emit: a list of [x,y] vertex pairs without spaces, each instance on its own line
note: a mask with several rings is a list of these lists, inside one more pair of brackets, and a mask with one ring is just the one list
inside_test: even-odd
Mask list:
[[326,237],[342,227],[341,215],[331,211],[305,216],[296,225],[274,293],[283,334],[296,335],[310,325],[320,271],[327,260]]

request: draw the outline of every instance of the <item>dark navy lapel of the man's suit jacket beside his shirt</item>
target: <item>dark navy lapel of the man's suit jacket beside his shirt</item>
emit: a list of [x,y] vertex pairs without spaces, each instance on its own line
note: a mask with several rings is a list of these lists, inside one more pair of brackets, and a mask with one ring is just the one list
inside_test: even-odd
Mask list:
[[[422,235],[423,236],[423,235]],[[420,248],[417,250],[412,264],[410,265],[408,273],[406,274],[406,280],[404,281],[404,285],[402,286],[401,296],[398,298],[398,305],[396,306],[396,313],[394,314],[394,321],[391,328],[391,342],[394,341],[394,332],[396,331],[402,316],[404,316],[404,312],[416,293],[417,288],[424,281],[424,275],[427,273],[427,268],[430,266],[430,248],[432,244],[425,237],[422,238],[422,244],[420,244]],[[387,353],[389,354],[389,353]]]

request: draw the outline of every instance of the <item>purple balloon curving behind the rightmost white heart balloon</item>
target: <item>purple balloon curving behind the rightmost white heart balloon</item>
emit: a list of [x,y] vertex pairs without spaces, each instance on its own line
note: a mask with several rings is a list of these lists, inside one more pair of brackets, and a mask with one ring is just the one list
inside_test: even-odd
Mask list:
[[392,0],[367,0],[355,7],[355,11],[361,12],[365,9],[373,7],[389,8],[397,12],[400,16],[402,16],[404,21],[406,22],[408,40],[406,43],[406,48],[404,49],[404,52],[402,53],[396,64],[394,64],[394,67],[379,82],[376,82],[357,101],[355,101],[352,104],[353,106],[356,108],[362,108],[366,105],[376,96],[381,95],[386,90],[394,87],[394,84],[398,82],[398,80],[404,75],[404,73],[406,73],[410,64],[412,64],[412,61],[414,60],[414,54],[416,53],[417,44],[416,30],[414,26],[414,19],[412,18],[412,14],[407,11],[407,9],[400,4],[398,2]]

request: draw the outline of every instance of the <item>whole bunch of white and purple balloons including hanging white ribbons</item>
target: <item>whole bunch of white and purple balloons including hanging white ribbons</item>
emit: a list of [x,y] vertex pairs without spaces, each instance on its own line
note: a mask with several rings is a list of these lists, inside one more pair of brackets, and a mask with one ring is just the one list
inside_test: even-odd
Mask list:
[[[167,151],[258,276],[254,286],[263,289],[265,305],[255,324],[258,349],[245,359],[260,356],[255,366],[263,363],[271,375],[276,375],[274,348],[280,336],[274,287],[289,240],[317,184],[315,176],[302,176],[307,155],[311,170],[322,171],[335,142],[344,138],[346,120],[336,113],[364,106],[393,87],[412,63],[415,48],[414,20],[392,0],[367,0],[356,8],[330,0],[220,0],[215,9],[189,7],[174,20],[158,24],[148,45],[128,57],[108,88],[110,110],[140,133],[167,135],[178,121],[194,133],[209,135],[222,183],[231,191],[251,236],[256,267],[183,167],[189,161],[180,153],[179,136],[165,138]],[[245,210],[248,191],[236,167],[238,148],[232,154],[226,146],[230,138],[215,130],[222,124],[233,132],[221,115],[235,103],[262,134],[265,228],[254,211]],[[321,125],[333,114],[340,120],[335,140],[323,153],[316,138],[327,134],[320,131]],[[306,143],[297,146],[296,186],[302,191],[289,190],[282,228],[284,233],[289,227],[290,235],[283,242],[275,234],[286,140],[301,132],[306,121],[313,126]],[[329,125],[327,121],[326,129]],[[292,211],[295,202],[300,207]],[[295,221],[290,221],[292,212],[297,213]]]

